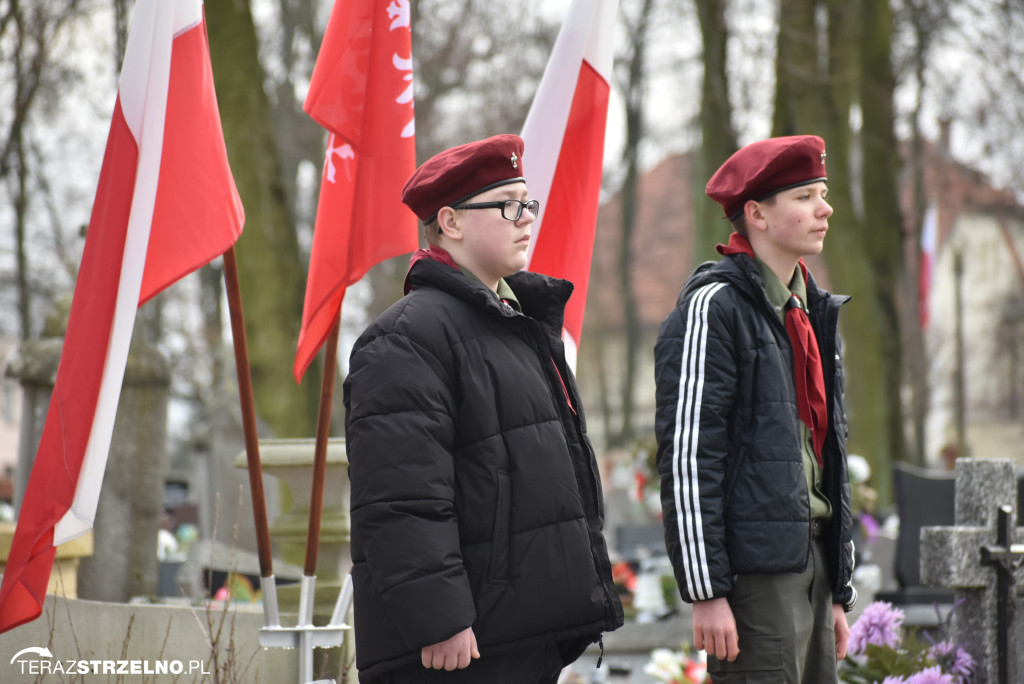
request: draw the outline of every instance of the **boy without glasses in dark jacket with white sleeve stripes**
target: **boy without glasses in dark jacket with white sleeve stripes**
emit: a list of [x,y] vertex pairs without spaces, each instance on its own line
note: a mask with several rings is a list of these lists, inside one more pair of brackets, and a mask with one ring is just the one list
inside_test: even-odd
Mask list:
[[662,507],[693,643],[716,684],[837,682],[857,593],[842,349],[818,289],[824,141],[770,138],[708,182],[735,232],[654,347]]

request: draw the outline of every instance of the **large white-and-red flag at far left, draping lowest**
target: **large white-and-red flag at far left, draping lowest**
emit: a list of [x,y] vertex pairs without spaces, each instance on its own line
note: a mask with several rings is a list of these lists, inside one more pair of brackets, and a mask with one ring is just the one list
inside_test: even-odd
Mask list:
[[244,220],[202,0],[139,0],[0,632],[39,616],[56,545],[92,528],[138,306],[229,249]]

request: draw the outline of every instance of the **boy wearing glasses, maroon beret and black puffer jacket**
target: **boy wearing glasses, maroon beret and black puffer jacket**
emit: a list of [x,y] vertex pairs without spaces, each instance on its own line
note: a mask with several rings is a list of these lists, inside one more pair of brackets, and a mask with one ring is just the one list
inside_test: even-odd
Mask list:
[[406,296],[344,385],[359,681],[554,684],[622,625],[594,452],[561,343],[571,284],[521,270],[523,143],[424,163]]

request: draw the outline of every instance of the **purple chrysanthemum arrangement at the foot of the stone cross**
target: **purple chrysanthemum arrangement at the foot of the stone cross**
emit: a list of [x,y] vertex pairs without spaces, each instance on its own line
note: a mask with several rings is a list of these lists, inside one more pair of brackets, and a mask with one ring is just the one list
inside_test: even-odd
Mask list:
[[[955,606],[954,606],[955,608]],[[975,661],[959,644],[903,633],[903,611],[876,601],[850,628],[840,677],[849,684],[971,684]]]

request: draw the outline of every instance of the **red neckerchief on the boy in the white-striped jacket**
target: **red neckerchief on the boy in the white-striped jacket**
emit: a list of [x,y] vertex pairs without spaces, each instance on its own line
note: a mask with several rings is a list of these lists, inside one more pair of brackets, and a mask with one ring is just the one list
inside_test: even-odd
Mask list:
[[[732,256],[745,254],[754,258],[754,249],[750,241],[738,232],[729,236],[728,245],[718,245],[719,254]],[[803,259],[798,262],[804,282],[807,283],[807,265]],[[807,317],[800,297],[793,295],[785,303],[785,332],[790,335],[793,345],[793,370],[797,385],[797,411],[800,420],[811,431],[811,441],[814,445],[814,458],[818,466],[822,465],[821,450],[825,443],[825,433],[828,431],[828,411],[825,404],[825,379],[821,370],[821,353],[814,330]]]

